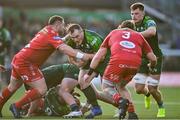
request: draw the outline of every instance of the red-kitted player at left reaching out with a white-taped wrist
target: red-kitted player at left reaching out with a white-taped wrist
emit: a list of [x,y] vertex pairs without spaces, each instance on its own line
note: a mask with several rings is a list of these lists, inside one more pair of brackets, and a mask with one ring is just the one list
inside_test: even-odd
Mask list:
[[64,44],[58,34],[58,32],[63,32],[63,30],[64,19],[57,15],[50,17],[48,25],[39,31],[30,43],[14,56],[10,83],[0,95],[0,113],[6,101],[23,83],[32,89],[19,101],[11,104],[10,110],[15,118],[21,117],[19,113],[21,106],[45,94],[47,86],[39,67],[56,49],[85,61],[92,57],[90,54],[77,52]]

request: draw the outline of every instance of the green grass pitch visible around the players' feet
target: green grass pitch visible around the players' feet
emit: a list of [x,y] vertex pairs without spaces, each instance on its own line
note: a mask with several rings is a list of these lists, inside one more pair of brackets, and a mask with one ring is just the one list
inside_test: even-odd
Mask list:
[[[135,109],[140,119],[157,119],[157,104],[152,99],[152,105],[149,110],[146,110],[144,108],[144,96],[137,95],[132,88],[129,89],[131,91],[134,103],[135,103]],[[172,88],[172,87],[163,87],[160,88],[165,108],[166,108],[166,117],[163,119],[180,119],[180,87],[179,88]],[[3,119],[12,119],[12,114],[9,111],[9,105],[10,103],[13,103],[14,101],[18,100],[21,95],[24,94],[24,89],[21,88],[16,92],[15,95],[12,96],[12,98],[5,104],[3,108]],[[85,100],[83,99],[83,95],[81,97],[82,102]],[[100,105],[103,109],[103,115],[96,117],[97,119],[112,119],[112,116],[114,115],[115,108],[112,105],[100,102]],[[32,117],[33,119],[59,119],[59,117],[48,117],[48,116],[38,116],[38,117]]]

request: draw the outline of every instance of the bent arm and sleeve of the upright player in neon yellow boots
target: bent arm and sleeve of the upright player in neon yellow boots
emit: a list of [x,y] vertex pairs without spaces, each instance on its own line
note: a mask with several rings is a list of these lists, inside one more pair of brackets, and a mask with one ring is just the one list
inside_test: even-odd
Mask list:
[[156,23],[153,20],[147,21],[147,29],[142,31],[141,34],[145,38],[149,38],[156,35]]

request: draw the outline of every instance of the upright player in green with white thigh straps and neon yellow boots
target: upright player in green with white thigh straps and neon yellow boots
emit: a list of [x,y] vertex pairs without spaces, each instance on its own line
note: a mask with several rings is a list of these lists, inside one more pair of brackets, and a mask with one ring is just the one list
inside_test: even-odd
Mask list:
[[[158,60],[156,67],[153,71],[150,71],[147,66],[149,61],[143,56],[140,70],[134,77],[135,89],[138,94],[145,95],[145,107],[147,109],[150,107],[150,95],[152,95],[159,106],[157,117],[165,117],[163,99],[158,87],[162,70],[163,55],[159,48],[156,23],[152,18],[145,15],[144,4],[140,2],[134,3],[130,6],[130,9],[136,31],[140,32],[146,38]],[[145,87],[146,82],[147,88]]]

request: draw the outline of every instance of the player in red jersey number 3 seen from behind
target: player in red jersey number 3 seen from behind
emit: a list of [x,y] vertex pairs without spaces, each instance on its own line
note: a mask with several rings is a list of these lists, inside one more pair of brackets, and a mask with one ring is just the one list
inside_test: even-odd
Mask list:
[[129,97],[123,98],[117,90],[125,87],[137,73],[141,64],[142,52],[150,60],[150,68],[153,68],[157,62],[149,44],[141,34],[132,30],[134,28],[131,21],[124,21],[120,29],[110,32],[94,56],[88,72],[88,75],[91,75],[93,71],[96,71],[96,67],[106,55],[107,49],[110,49],[111,57],[103,75],[102,88],[114,102],[119,104],[120,119],[126,116]]

